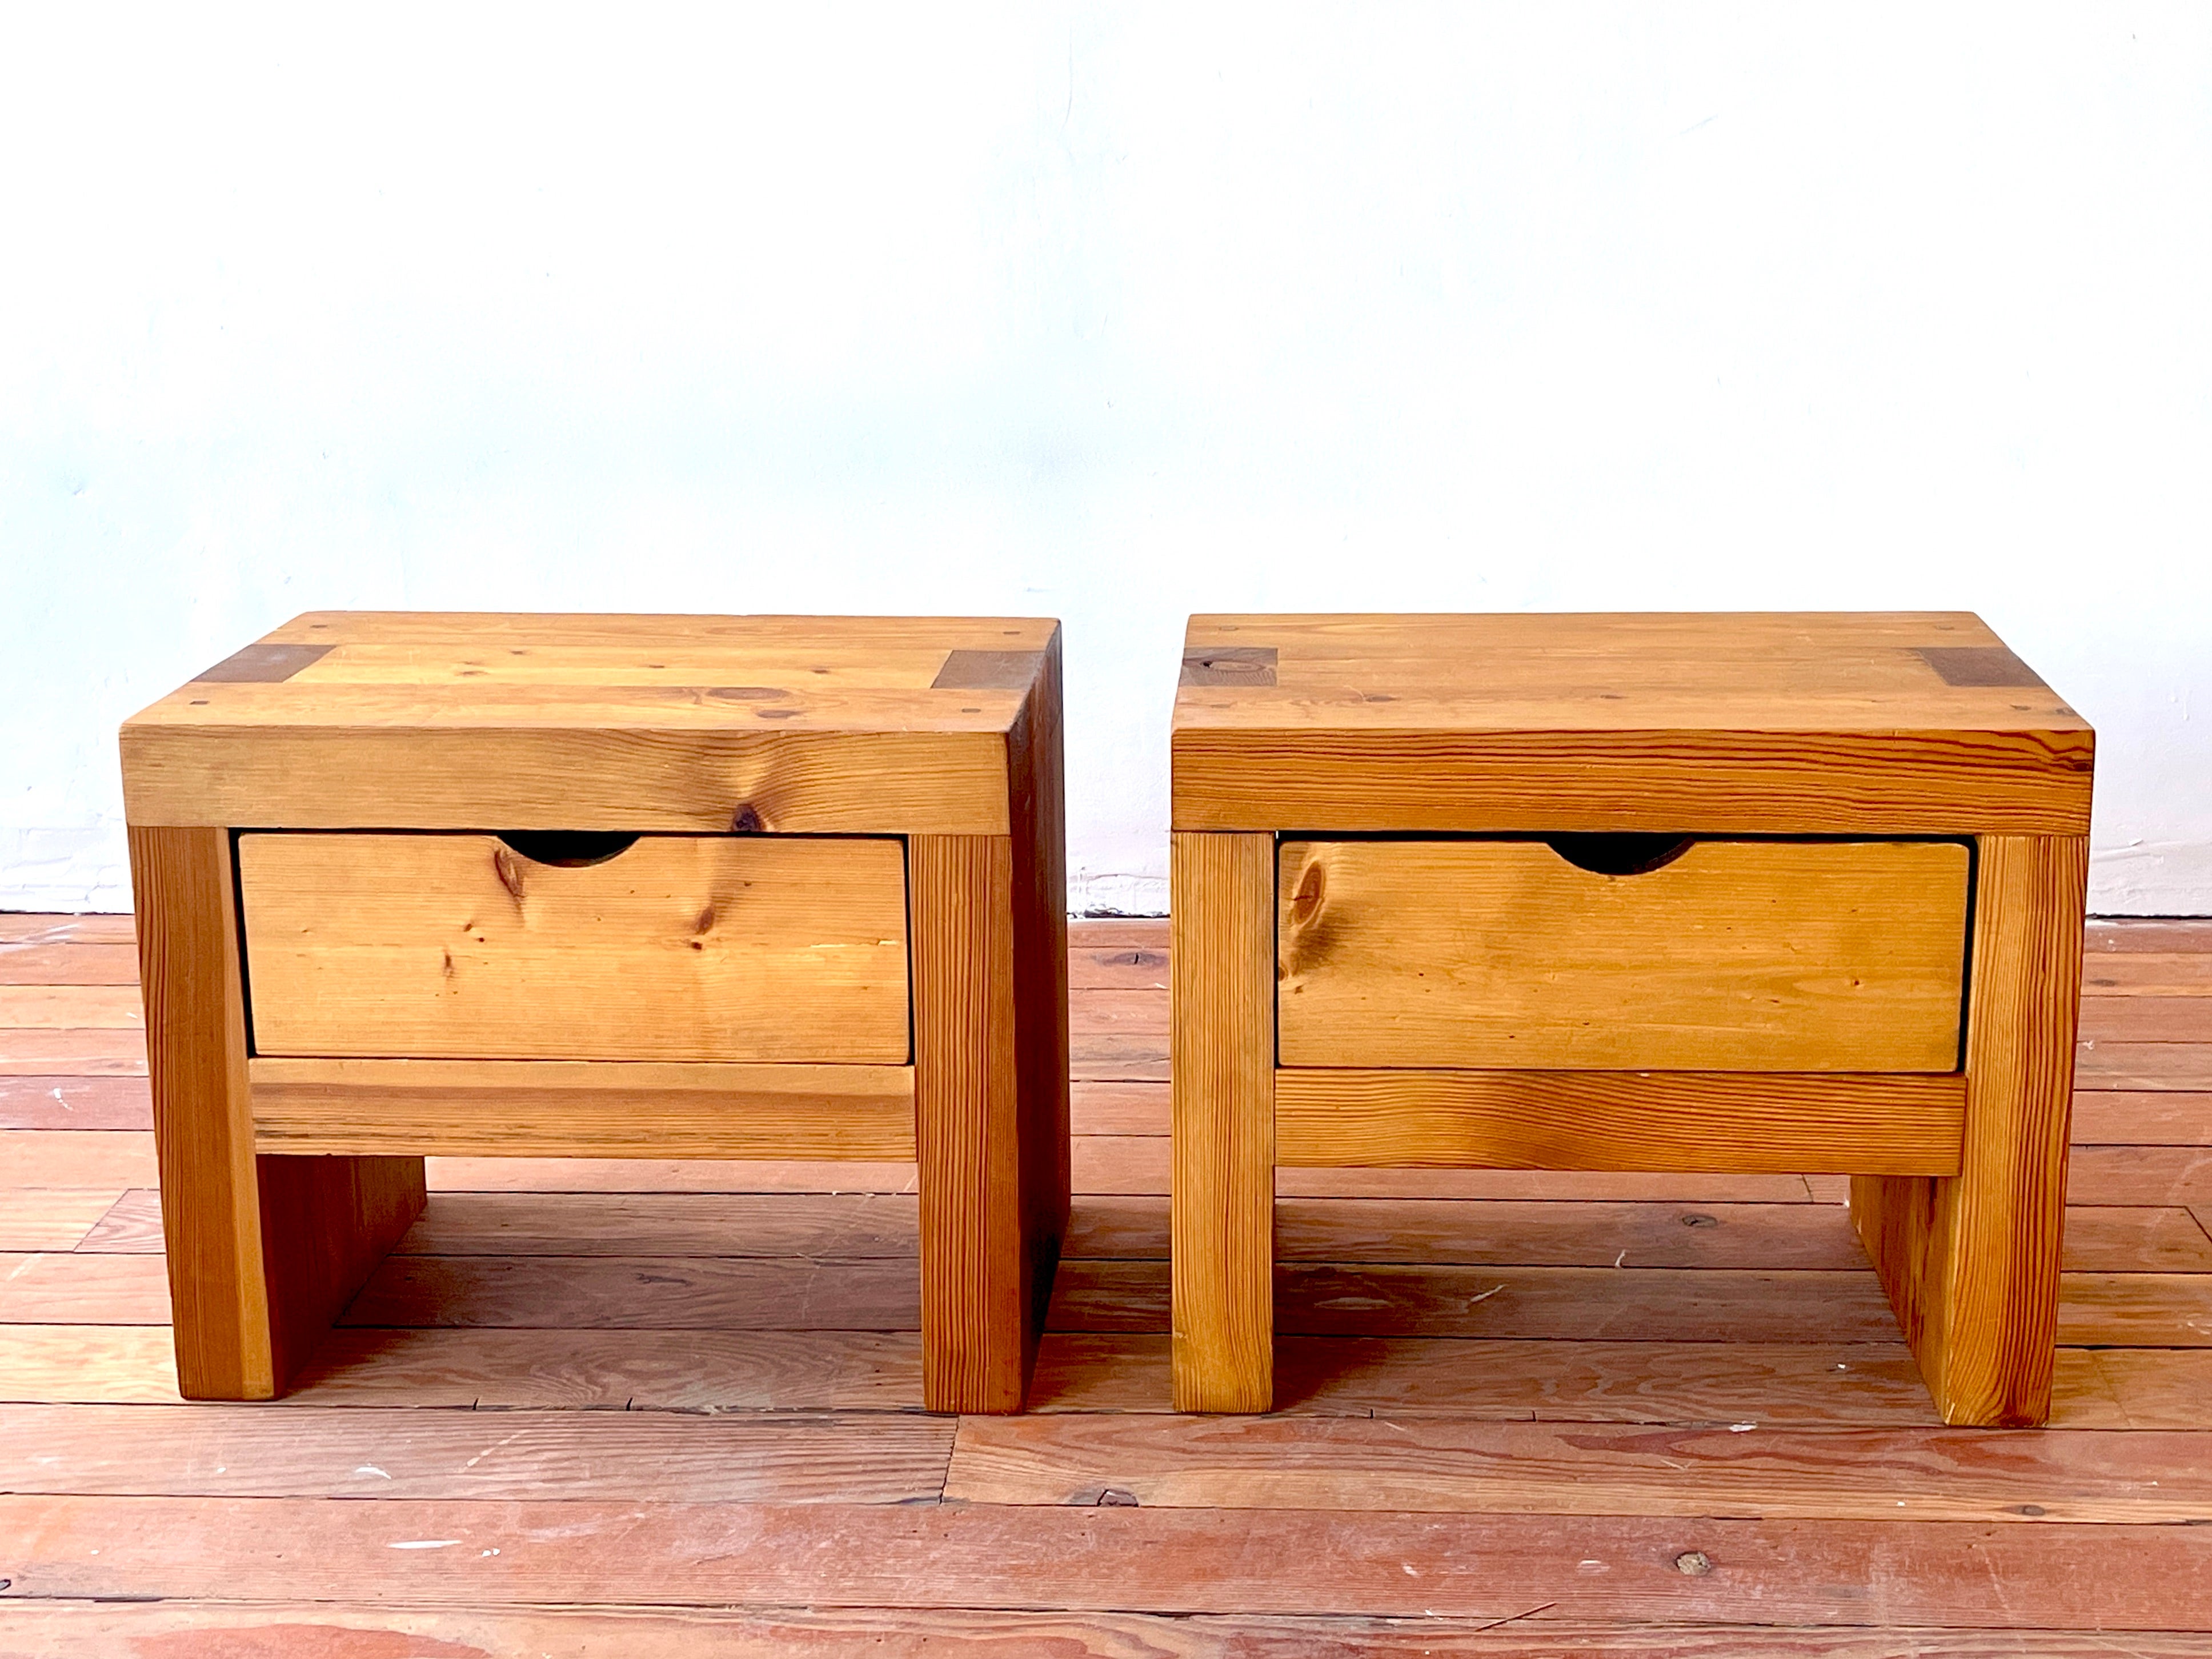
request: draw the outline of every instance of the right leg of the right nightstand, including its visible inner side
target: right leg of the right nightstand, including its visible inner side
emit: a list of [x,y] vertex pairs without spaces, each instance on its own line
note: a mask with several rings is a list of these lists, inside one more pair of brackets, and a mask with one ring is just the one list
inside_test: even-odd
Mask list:
[[1982,836],[1955,1177],[1854,1177],[1851,1219],[1944,1422],[2051,1416],[2088,841]]

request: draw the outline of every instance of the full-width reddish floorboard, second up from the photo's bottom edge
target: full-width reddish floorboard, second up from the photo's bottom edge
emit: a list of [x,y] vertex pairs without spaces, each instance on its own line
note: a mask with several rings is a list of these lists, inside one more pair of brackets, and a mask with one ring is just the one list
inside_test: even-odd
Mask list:
[[18,1597],[2212,1628],[2197,1526],[0,1498],[0,1535]]

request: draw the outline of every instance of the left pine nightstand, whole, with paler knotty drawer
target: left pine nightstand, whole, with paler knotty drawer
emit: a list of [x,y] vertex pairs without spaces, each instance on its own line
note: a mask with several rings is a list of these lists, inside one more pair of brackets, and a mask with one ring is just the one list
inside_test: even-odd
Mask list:
[[936,1411],[1068,1206],[1060,626],[305,615],[122,730],[195,1398],[268,1398],[422,1155],[916,1159]]

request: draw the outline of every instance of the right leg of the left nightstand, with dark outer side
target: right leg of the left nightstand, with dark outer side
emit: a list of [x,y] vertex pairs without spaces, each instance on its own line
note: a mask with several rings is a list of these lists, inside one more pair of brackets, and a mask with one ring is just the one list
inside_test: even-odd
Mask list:
[[1066,900],[1011,836],[909,836],[922,1398],[1020,1411],[1068,1212]]

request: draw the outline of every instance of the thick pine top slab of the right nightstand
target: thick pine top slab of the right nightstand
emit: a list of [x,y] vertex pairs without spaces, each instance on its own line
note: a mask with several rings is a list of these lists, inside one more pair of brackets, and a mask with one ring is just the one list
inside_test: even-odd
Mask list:
[[1971,613],[1201,615],[1177,830],[2086,834],[2095,734]]

